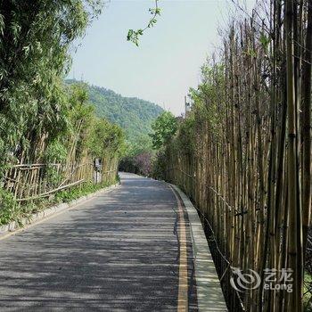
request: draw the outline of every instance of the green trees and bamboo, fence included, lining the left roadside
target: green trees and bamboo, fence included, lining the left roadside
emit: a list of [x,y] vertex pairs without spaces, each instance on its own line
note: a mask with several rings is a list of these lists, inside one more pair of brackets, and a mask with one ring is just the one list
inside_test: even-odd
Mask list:
[[64,83],[72,42],[101,7],[0,1],[0,224],[22,217],[29,202],[116,180],[121,129],[95,116],[83,84]]

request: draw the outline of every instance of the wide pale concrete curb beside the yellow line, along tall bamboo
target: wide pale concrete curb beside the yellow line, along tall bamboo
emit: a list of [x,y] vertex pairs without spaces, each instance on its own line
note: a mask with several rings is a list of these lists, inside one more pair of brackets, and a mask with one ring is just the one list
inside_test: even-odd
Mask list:
[[197,210],[185,193],[176,185],[171,186],[184,202],[190,222],[198,309],[200,312],[228,311],[216,267]]

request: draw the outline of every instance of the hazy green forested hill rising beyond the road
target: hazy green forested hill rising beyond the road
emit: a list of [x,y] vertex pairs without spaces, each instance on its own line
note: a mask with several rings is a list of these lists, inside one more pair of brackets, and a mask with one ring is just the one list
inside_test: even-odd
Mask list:
[[[67,80],[67,83],[78,81]],[[152,132],[152,120],[163,109],[154,103],[136,97],[124,97],[100,86],[87,85],[89,102],[99,117],[105,117],[125,130],[127,139],[134,142],[139,136]]]

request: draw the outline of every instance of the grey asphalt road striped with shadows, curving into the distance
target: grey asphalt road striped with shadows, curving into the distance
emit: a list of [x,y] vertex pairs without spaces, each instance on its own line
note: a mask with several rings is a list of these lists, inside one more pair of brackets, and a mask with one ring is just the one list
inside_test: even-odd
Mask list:
[[[177,200],[122,174],[118,188],[0,241],[0,311],[175,311]],[[188,232],[187,216],[185,216]],[[189,233],[189,309],[195,311]]]

